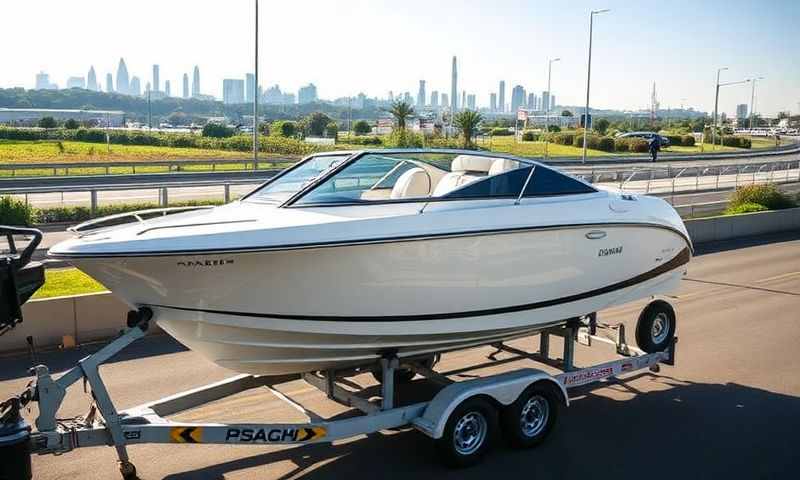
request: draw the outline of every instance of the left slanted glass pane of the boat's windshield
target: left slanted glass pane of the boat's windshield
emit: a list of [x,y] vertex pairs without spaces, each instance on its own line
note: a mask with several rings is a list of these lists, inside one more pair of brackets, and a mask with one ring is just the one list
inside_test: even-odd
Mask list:
[[272,182],[267,183],[247,197],[247,200],[262,203],[283,203],[314,180],[336,168],[349,155],[317,155],[306,159]]

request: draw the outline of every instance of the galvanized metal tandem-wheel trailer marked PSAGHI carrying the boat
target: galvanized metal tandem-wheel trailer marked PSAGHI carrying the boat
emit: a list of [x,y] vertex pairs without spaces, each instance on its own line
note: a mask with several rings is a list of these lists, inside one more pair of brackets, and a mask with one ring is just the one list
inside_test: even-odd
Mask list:
[[[664,310],[669,304],[655,300]],[[647,309],[645,309],[647,310]],[[669,307],[668,311],[672,311]],[[606,325],[596,315],[571,319],[547,330],[526,334],[531,343],[538,336],[538,348],[527,352],[506,343],[490,344],[495,351],[487,363],[459,370],[477,370],[498,362],[500,353],[510,354],[503,363],[534,360],[562,373],[550,374],[540,369],[521,368],[506,373],[476,379],[454,381],[448,375],[433,370],[426,359],[399,359],[386,355],[376,365],[349,370],[306,373],[280,377],[237,375],[227,380],[181,392],[160,400],[126,410],[118,410],[99,374],[99,366],[132,342],[145,336],[152,312],[143,308],[130,312],[128,329],[96,353],[80,360],[72,369],[53,378],[48,368],[39,365],[31,369],[34,379],[18,396],[0,403],[0,479],[28,480],[31,478],[31,455],[63,454],[78,448],[113,446],[119,458],[120,472],[125,480],[138,478],[128,455],[129,445],[158,444],[220,444],[220,445],[307,445],[333,442],[380,430],[413,427],[435,440],[444,462],[462,467],[477,463],[491,446],[496,433],[502,433],[515,447],[533,447],[541,443],[555,428],[559,412],[569,405],[568,391],[635,371],[659,371],[660,364],[675,364],[674,312],[673,336],[666,349],[645,352],[629,345],[624,325]],[[651,323],[637,325],[639,335],[650,330],[663,336],[663,331],[651,328]],[[613,335],[598,335],[598,330]],[[642,333],[642,332],[644,333]],[[533,336],[532,336],[533,335]],[[563,339],[563,358],[552,358],[550,339]],[[616,358],[590,367],[575,366],[576,344],[608,345]],[[485,346],[485,345],[484,345]],[[380,401],[369,401],[359,392],[344,388],[342,380],[376,371],[380,378]],[[443,388],[429,401],[399,405],[396,401],[401,372],[421,375]],[[451,375],[452,376],[452,375]],[[66,389],[78,381],[91,389],[94,402],[89,413],[69,420],[56,414]],[[275,389],[289,381],[304,380],[318,388],[335,402],[354,408],[360,416],[341,420],[324,420],[303,405]],[[185,423],[168,419],[170,415],[199,407],[209,402],[255,388],[269,389],[276,397],[305,414],[305,423]],[[37,403],[39,416],[36,429],[23,419],[21,411]]]

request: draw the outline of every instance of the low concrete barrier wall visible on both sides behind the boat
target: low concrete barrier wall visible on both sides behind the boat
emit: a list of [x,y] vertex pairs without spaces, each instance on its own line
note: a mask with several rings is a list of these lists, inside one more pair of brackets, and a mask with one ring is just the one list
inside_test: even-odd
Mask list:
[[[800,230],[800,208],[687,220],[686,228],[696,245]],[[25,350],[29,336],[37,347],[60,345],[66,335],[78,343],[111,338],[125,328],[129,309],[109,292],[34,300],[23,307],[25,321],[0,337],[0,352]]]

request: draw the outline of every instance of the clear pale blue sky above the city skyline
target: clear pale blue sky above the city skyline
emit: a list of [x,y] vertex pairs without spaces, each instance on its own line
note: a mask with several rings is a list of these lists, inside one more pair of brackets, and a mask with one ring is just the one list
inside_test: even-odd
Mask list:
[[[223,78],[253,70],[255,0],[4,0],[0,87],[33,88],[39,71],[64,86],[69,76],[131,75],[180,91],[199,65],[203,93],[221,96]],[[364,92],[416,95],[419,80],[449,92],[453,55],[459,90],[487,106],[506,81],[560,105],[586,95],[589,11],[595,16],[591,105],[648,108],[653,83],[662,108],[712,111],[717,68],[723,82],[757,83],[756,111],[800,110],[796,0],[261,0],[260,82],[295,92],[309,82],[322,98]],[[16,19],[16,20],[13,20]],[[794,51],[793,51],[794,50]],[[750,103],[750,84],[722,87],[720,111]]]

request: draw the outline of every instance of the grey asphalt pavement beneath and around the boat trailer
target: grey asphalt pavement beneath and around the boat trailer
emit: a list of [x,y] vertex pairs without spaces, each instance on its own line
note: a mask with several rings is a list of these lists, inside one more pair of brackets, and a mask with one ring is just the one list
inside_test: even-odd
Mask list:
[[[431,441],[414,430],[303,448],[143,445],[130,448],[130,453],[146,480],[796,477],[800,232],[704,247],[690,264],[674,302],[680,337],[676,367],[579,394],[549,443],[532,451],[497,445],[485,463],[469,470],[440,467]],[[600,318],[633,327],[640,308],[616,308],[601,312]],[[64,369],[96,348],[40,354],[39,362]],[[480,363],[489,352],[484,348],[448,354],[438,368],[450,371]],[[601,358],[598,352],[578,350],[579,364]],[[5,398],[25,386],[32,362],[27,356],[0,361],[0,398]],[[154,336],[123,352],[102,374],[117,406],[126,408],[220,380],[230,372],[168,337]],[[361,376],[355,381],[366,384],[370,379]],[[401,399],[411,401],[428,387],[417,381],[401,389]],[[323,417],[344,412],[305,384],[294,382],[281,389]],[[61,415],[85,413],[89,400],[76,386]],[[260,390],[178,418],[301,420],[294,409]],[[33,463],[34,477],[42,480],[119,478],[114,451],[106,447],[34,457]]]

